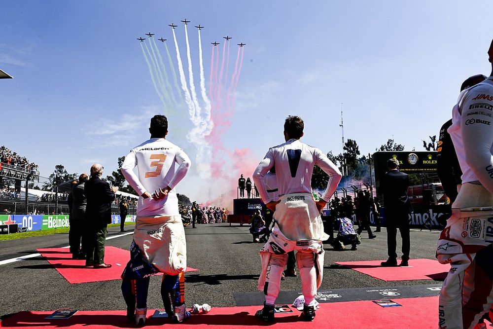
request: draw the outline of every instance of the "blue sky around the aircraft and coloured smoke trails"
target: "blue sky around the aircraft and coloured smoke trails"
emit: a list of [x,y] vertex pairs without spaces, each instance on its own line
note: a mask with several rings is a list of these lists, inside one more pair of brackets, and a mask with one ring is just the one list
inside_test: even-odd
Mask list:
[[[222,141],[231,152],[251,149],[253,167],[283,141],[289,114],[305,120],[306,143],[341,152],[341,103],[345,138],[362,153],[389,138],[423,150],[421,140],[450,118],[462,81],[491,71],[487,0],[18,0],[3,1],[1,9],[0,68],[14,79],[0,81],[0,144],[38,163],[42,176],[56,164],[87,172],[96,161],[108,174],[118,156],[148,138],[150,116],[170,109],[135,38],[156,33],[174,54],[168,24],[175,23],[186,65],[183,18],[205,26],[206,87],[209,42],[222,46],[229,35],[235,46],[247,44]],[[198,89],[196,29],[188,32]],[[233,58],[237,48],[231,49]],[[173,139],[174,130],[186,129],[176,123],[170,120],[169,139],[195,155],[190,143]],[[217,182],[194,171],[178,192],[205,201],[227,192],[226,180]]]

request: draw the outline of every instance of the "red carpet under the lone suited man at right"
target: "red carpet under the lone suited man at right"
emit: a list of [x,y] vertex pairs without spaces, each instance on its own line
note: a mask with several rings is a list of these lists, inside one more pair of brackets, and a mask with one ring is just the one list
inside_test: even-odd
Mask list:
[[355,271],[384,281],[444,279],[450,264],[440,264],[436,259],[409,259],[409,266],[383,267],[384,260],[336,261]]

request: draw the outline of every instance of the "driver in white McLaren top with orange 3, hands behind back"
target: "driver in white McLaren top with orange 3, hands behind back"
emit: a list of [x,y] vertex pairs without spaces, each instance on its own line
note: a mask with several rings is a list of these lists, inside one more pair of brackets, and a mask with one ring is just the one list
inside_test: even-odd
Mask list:
[[[138,325],[145,323],[149,277],[159,272],[164,273],[161,295],[168,316],[182,322],[190,315],[185,311],[185,231],[175,191],[176,184],[188,172],[190,159],[165,139],[166,116],[155,115],[149,132],[151,138],[133,148],[121,168],[123,176],[141,196],[130,261],[122,273],[121,287],[127,317],[135,319]],[[133,171],[136,166],[139,176]]]

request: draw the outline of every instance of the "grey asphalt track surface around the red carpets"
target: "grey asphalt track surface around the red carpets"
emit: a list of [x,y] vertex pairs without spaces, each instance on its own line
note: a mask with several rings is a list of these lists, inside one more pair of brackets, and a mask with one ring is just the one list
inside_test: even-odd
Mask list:
[[[133,226],[125,226],[127,230]],[[109,236],[120,235],[118,227],[108,229]],[[258,251],[261,244],[252,243],[248,226],[227,223],[198,224],[196,229],[185,228],[188,265],[199,269],[185,275],[186,306],[208,303],[212,307],[237,306],[235,293],[258,292],[260,272]],[[442,281],[412,280],[385,282],[334,264],[335,261],[387,259],[385,228],[370,240],[362,233],[357,251],[333,251],[324,245],[325,262],[322,290],[376,288],[397,286],[440,285]],[[411,231],[411,258],[435,259],[437,231]],[[397,252],[400,250],[397,235]],[[132,235],[106,241],[107,246],[127,250]],[[0,241],[2,260],[35,254],[37,248],[64,247],[68,234]],[[104,271],[104,269],[101,269]],[[70,284],[42,256],[35,256],[0,265],[0,316],[3,318],[19,311],[50,311],[61,308],[74,310],[123,310],[126,305],[120,291],[120,280]],[[162,308],[161,277],[151,277],[148,308]],[[300,292],[298,277],[282,281],[282,291]],[[410,287],[411,288],[411,287]],[[416,287],[418,288],[418,287]],[[424,289],[425,290],[425,289]],[[438,294],[438,292],[436,292]],[[355,298],[357,300],[357,297]]]

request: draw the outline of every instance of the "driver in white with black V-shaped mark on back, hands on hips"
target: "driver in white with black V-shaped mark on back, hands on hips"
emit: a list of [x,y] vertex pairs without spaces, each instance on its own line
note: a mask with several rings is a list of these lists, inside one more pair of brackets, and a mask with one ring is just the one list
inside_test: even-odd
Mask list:
[[[253,181],[260,186],[260,197],[274,211],[275,222],[269,240],[260,249],[262,273],[258,289],[265,293],[265,303],[255,315],[264,321],[274,320],[274,303],[279,294],[282,271],[287,253],[293,250],[297,251],[296,262],[305,296],[303,316],[306,321],[315,318],[315,295],[323,273],[322,241],[328,238],[323,232],[320,210],[336,190],[341,173],[322,151],[300,142],[303,128],[300,117],[288,116],[284,123],[286,143],[270,148],[253,175]],[[330,177],[327,189],[317,202],[310,186],[314,165]],[[276,168],[279,201],[269,197],[264,180],[272,167]]]

